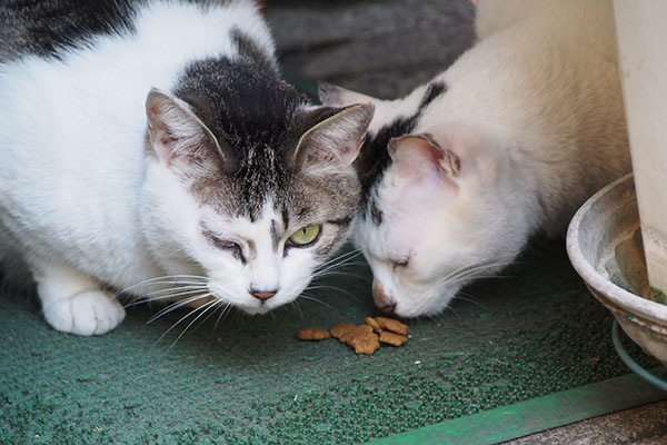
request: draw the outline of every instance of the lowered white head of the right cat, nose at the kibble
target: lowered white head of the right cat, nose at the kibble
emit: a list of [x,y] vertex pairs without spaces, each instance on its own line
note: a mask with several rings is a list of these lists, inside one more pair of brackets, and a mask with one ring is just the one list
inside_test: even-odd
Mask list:
[[402,317],[441,312],[524,245],[525,216],[515,211],[522,194],[501,174],[510,166],[477,128],[428,116],[437,112],[435,90],[445,88],[431,83],[394,101],[334,87],[322,95],[328,105],[376,106],[358,161],[364,209],[354,241],[372,268],[376,305]]

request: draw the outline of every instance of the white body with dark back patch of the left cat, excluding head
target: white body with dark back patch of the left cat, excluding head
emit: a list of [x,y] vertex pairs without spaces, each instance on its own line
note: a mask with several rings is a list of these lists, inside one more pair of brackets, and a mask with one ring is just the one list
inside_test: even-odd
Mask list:
[[268,29],[251,1],[32,3],[0,6],[0,231],[77,260],[136,249],[147,93],[248,42],[272,60]]

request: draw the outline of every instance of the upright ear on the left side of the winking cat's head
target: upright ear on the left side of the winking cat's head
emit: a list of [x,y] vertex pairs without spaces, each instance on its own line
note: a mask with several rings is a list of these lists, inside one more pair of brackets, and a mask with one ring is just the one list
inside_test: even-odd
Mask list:
[[185,101],[153,88],[146,99],[146,115],[151,146],[167,166],[201,170],[221,161],[230,167],[231,159]]

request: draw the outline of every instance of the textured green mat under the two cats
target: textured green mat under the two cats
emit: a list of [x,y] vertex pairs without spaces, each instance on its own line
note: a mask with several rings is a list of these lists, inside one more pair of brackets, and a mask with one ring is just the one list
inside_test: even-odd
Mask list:
[[82,338],[50,329],[34,301],[1,295],[0,443],[362,443],[628,373],[611,316],[563,243],[542,240],[441,316],[408,322],[402,347],[368,357],[297,340],[302,327],[376,314],[357,259],[345,270],[361,278],[317,281],[308,295],[319,301],[231,313],[217,328],[211,317],[172,347],[191,318],[160,336],[186,312],[147,325],[156,309],[136,307],[115,332]]

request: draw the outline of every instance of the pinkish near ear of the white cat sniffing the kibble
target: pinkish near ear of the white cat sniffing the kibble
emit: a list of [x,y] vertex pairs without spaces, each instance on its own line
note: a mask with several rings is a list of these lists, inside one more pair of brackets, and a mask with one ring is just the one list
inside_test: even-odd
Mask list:
[[440,178],[458,184],[461,161],[454,151],[440,147],[429,134],[392,138],[387,146],[399,180]]

